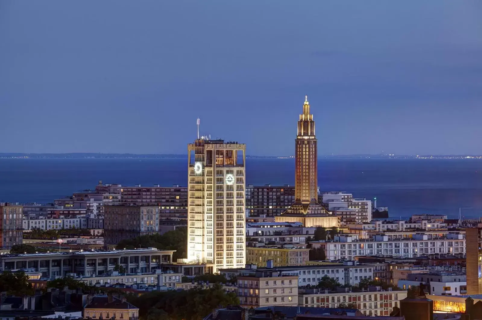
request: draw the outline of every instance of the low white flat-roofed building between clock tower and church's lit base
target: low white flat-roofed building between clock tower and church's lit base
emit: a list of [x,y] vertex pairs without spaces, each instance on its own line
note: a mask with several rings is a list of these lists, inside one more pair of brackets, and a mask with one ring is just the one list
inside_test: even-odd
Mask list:
[[256,243],[306,243],[313,237],[316,227],[303,227],[301,222],[246,223],[248,242]]

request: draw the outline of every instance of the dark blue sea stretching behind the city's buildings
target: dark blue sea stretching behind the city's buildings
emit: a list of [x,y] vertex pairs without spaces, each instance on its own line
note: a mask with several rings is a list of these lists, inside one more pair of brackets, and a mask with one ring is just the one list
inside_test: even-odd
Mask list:
[[[246,183],[293,185],[294,159],[246,160]],[[103,183],[187,185],[186,159],[0,159],[0,201],[52,203]],[[390,218],[482,217],[481,159],[319,159],[321,191],[377,198]]]

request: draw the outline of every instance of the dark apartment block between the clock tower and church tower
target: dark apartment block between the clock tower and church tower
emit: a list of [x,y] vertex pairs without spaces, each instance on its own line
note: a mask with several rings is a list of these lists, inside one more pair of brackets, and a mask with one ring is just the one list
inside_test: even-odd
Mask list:
[[246,186],[246,212],[249,216],[280,216],[295,202],[295,186]]

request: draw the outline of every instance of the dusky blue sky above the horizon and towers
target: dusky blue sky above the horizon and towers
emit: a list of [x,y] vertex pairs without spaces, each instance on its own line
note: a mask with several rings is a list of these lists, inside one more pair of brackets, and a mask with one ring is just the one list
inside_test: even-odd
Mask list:
[[0,152],[482,154],[482,2],[0,1]]

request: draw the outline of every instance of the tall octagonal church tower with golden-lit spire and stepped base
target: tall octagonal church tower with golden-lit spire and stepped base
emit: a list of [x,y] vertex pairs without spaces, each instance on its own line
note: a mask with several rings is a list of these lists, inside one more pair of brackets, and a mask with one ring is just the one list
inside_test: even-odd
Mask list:
[[305,96],[295,139],[295,203],[275,219],[277,222],[302,222],[305,227],[338,227],[339,218],[318,203],[318,141],[309,107],[308,96]]

